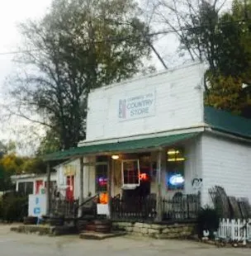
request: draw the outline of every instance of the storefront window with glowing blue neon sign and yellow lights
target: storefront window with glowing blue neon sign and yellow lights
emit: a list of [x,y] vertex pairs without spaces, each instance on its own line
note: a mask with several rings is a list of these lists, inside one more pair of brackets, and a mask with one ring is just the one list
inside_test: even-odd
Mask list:
[[182,190],[185,181],[185,157],[182,153],[182,149],[168,149],[167,154],[166,187],[168,190]]

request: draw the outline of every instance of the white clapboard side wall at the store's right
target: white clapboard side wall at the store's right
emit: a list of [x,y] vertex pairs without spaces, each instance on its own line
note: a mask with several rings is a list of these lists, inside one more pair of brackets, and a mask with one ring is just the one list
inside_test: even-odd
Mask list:
[[211,204],[208,189],[218,185],[228,196],[251,201],[251,145],[219,135],[202,136],[202,206]]

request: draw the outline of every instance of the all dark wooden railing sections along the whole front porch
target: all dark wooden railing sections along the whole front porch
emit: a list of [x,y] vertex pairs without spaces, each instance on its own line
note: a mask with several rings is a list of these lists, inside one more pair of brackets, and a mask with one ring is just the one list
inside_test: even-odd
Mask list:
[[[65,218],[99,219],[97,215],[99,195],[90,197],[79,204],[79,201],[51,201],[50,216],[64,216]],[[176,193],[172,198],[161,200],[160,221],[196,220],[200,209],[200,195]],[[82,215],[79,216],[79,210]],[[158,216],[157,199],[149,197],[122,198],[120,195],[112,197],[110,201],[110,218],[115,221],[150,221],[154,222]],[[159,221],[159,220],[158,220]]]

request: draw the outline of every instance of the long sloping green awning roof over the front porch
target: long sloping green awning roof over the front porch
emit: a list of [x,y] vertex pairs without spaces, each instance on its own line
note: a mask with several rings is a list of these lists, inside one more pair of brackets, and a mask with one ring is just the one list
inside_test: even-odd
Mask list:
[[114,143],[86,145],[65,151],[58,151],[53,154],[45,155],[45,161],[63,160],[88,154],[102,153],[125,153],[140,149],[156,149],[159,147],[173,145],[181,140],[188,140],[198,135],[198,132],[184,133],[178,135],[168,135],[140,140],[126,140]]

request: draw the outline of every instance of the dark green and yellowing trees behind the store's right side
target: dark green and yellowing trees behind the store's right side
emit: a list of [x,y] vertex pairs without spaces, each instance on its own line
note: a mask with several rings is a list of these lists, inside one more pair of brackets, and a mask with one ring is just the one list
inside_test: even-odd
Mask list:
[[234,0],[225,12],[222,0],[181,2],[178,9],[177,1],[164,0],[172,14],[165,22],[177,33],[181,50],[208,64],[206,104],[251,117],[251,1]]

